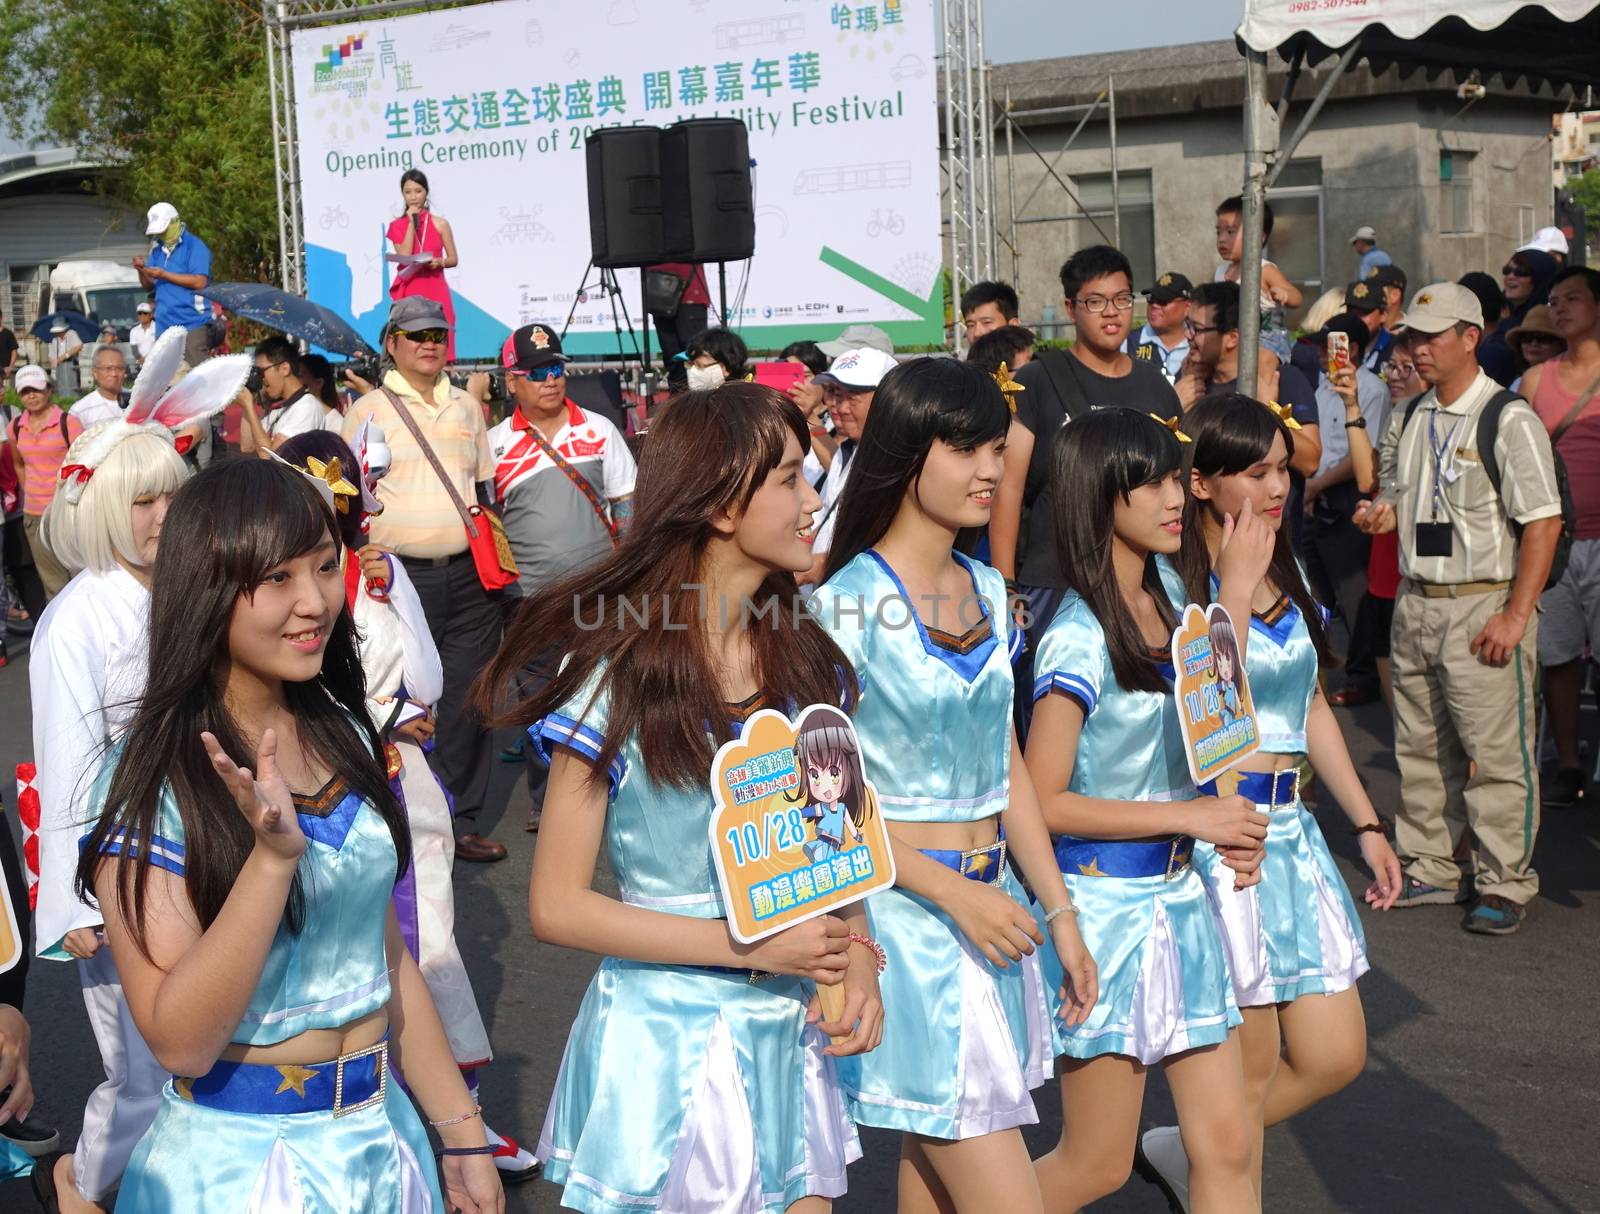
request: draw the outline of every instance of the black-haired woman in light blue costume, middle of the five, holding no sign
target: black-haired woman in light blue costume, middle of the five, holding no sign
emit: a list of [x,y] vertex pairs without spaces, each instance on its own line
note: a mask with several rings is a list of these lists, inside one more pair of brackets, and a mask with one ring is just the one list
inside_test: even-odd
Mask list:
[[[1021,637],[1000,574],[952,550],[989,523],[1011,413],[992,376],[946,358],[878,385],[813,609],[861,680],[856,733],[898,883],[867,905],[890,952],[885,1046],[840,1067],[861,1124],[904,1131],[902,1211],[1038,1211],[1018,1129],[1048,1078],[1061,1016],[1094,1004],[1083,947],[1011,729]],[[1006,856],[1037,894],[1026,909]],[[1059,977],[1059,976],[1058,976]]]

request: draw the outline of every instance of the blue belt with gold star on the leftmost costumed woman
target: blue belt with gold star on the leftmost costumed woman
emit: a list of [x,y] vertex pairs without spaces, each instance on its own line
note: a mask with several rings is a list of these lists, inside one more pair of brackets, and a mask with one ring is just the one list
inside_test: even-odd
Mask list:
[[173,1091],[181,1099],[229,1113],[344,1116],[382,1104],[387,1088],[387,1040],[333,1062],[218,1062],[194,1080],[173,1076]]

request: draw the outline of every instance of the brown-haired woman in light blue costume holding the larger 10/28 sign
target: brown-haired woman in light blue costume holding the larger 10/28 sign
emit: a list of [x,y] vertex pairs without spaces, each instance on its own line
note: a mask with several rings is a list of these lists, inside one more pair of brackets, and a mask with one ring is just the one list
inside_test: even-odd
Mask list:
[[[837,704],[848,680],[797,601],[821,505],[800,475],[806,440],[766,387],[674,398],[622,544],[523,603],[478,685],[485,709],[506,710],[531,654],[568,654],[509,718],[550,761],[533,932],[605,958],[538,1150],[573,1209],[816,1214],[861,1155],[834,1060],[880,1035],[866,915],[739,944],[709,840],[717,747],[760,707]],[[619,897],[594,888],[602,845]],[[840,982],[840,1020],[821,1022],[816,985]]]

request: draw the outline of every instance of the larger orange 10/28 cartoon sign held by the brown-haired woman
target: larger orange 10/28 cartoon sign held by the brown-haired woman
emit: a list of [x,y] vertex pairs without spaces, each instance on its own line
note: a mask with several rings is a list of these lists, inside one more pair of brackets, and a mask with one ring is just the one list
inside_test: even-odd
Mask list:
[[710,771],[710,848],[736,940],[754,944],[894,885],[878,795],[856,728],[811,704],[763,709]]

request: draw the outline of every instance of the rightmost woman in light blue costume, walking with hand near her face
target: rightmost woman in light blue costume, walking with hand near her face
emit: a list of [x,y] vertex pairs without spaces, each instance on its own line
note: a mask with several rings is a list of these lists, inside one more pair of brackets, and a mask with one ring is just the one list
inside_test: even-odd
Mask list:
[[[1350,763],[1350,752],[1317,686],[1323,613],[1283,526],[1294,437],[1250,397],[1211,397],[1184,416],[1189,451],[1189,542],[1182,553],[1192,601],[1218,595],[1224,520],[1250,510],[1275,533],[1272,563],[1250,601],[1229,605],[1256,704],[1261,750],[1242,765],[1238,792],[1269,817],[1261,883],[1234,889],[1206,846],[1195,849],[1227,947],[1234,993],[1245,1014],[1238,1038],[1251,1129],[1251,1176],[1261,1192],[1264,1126],[1309,1108],[1360,1075],[1366,1024],[1355,980],[1366,942],[1328,845],[1299,800],[1299,761],[1310,758],[1338,800],[1376,880],[1368,905],[1386,910],[1400,893],[1400,862]],[[1203,542],[1202,542],[1203,541]],[[1226,577],[1224,577],[1226,585]],[[1226,781],[1227,777],[1224,777]],[[1317,996],[1317,998],[1312,998]],[[1282,1054],[1282,1056],[1280,1056]],[[1182,1209],[1194,1206],[1184,1144],[1170,1128],[1141,1139],[1141,1171]]]

